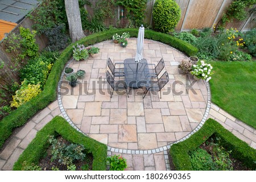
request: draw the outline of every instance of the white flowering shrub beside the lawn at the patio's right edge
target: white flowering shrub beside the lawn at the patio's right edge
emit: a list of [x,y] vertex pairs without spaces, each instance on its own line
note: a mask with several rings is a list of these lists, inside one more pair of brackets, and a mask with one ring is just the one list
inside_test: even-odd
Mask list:
[[213,75],[212,65],[200,61],[200,64],[194,64],[192,66],[191,74],[195,75],[197,78],[209,81],[210,78],[212,78],[210,75]]

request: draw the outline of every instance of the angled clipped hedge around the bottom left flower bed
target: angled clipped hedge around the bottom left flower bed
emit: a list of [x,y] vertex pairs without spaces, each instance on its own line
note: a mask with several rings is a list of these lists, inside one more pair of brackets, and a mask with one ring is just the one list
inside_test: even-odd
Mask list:
[[28,165],[33,163],[37,165],[49,147],[48,139],[51,135],[61,135],[69,142],[82,144],[88,152],[92,152],[93,154],[93,170],[106,170],[107,146],[92,138],[86,137],[69,125],[64,118],[59,116],[53,118],[42,130],[38,131],[36,137],[28,144],[26,150],[23,151],[19,159],[15,162],[13,170],[20,171],[24,161]]

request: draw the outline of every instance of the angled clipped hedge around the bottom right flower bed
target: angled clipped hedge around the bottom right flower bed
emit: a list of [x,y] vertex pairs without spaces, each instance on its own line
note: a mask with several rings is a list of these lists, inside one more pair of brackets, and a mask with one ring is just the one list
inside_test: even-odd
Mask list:
[[256,168],[256,163],[254,163],[256,161],[256,150],[234,136],[217,121],[208,119],[201,129],[190,138],[171,146],[170,155],[175,169],[178,171],[192,171],[189,151],[195,150],[213,134],[222,139],[221,144],[227,150],[232,150],[233,158],[241,160],[247,167]]

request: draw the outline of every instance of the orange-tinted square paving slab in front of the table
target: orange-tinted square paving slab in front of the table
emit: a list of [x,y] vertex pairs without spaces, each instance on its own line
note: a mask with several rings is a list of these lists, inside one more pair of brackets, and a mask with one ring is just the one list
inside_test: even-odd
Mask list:
[[119,125],[118,142],[137,142],[136,125]]

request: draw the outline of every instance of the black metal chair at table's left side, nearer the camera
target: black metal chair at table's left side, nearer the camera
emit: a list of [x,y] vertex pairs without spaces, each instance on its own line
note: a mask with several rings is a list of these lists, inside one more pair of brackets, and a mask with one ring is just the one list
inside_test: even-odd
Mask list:
[[[112,92],[110,94],[110,98],[112,98],[113,92],[114,91],[118,91],[118,90],[125,90],[127,96],[129,97],[128,93],[127,93],[127,85],[125,80],[118,80],[115,81],[114,77],[109,73],[109,71],[106,72],[106,80],[108,81],[109,85],[112,88]],[[111,90],[110,88],[110,90]]]

